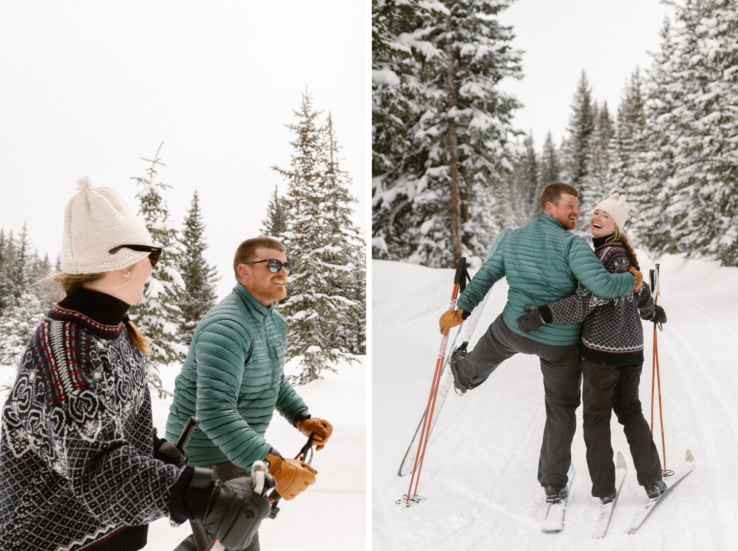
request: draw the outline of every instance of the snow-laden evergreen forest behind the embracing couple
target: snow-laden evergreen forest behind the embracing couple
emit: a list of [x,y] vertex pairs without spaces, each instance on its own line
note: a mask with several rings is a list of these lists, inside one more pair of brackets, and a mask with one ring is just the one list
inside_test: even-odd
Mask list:
[[[580,192],[582,217],[627,194],[643,249],[738,265],[738,2],[675,0],[652,65],[613,111],[582,72],[568,134],[540,150],[514,128],[520,77],[512,0],[373,0],[372,254],[450,267],[530,223],[546,184]],[[586,224],[585,224],[586,226]]]

